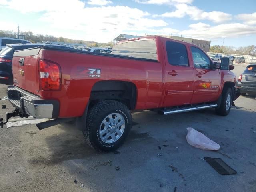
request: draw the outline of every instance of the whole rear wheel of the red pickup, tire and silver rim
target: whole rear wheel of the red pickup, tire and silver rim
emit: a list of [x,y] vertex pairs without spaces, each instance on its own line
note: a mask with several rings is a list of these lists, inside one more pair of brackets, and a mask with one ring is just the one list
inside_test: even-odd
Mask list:
[[112,151],[123,144],[131,127],[129,109],[121,102],[104,100],[89,110],[84,137],[92,148]]

